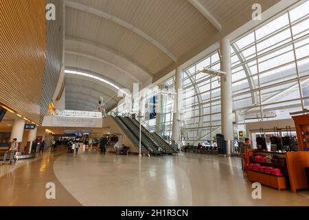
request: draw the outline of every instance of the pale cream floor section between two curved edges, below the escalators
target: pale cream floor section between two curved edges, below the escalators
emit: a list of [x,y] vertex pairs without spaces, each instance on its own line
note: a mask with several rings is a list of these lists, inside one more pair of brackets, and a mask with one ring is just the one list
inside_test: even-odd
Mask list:
[[136,155],[62,155],[54,170],[84,206],[192,206],[187,175],[165,159],[143,157],[139,166]]

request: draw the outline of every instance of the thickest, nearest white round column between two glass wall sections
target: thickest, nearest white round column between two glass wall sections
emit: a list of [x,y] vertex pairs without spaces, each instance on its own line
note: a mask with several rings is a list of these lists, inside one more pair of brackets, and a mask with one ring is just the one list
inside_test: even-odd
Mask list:
[[231,84],[231,45],[227,38],[220,41],[220,54],[222,58],[221,70],[226,76],[221,77],[221,123],[222,135],[225,140],[233,140],[233,102]]

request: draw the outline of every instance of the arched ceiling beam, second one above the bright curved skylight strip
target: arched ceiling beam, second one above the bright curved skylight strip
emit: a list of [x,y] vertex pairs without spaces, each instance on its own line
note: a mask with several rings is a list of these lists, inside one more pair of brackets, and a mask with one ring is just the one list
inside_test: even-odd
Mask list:
[[99,47],[102,50],[106,50],[108,52],[111,52],[112,54],[115,54],[115,56],[120,56],[121,58],[124,58],[129,63],[132,63],[133,65],[137,66],[139,69],[143,70],[145,72],[145,74],[148,74],[150,77],[153,77],[153,74],[151,72],[149,72],[148,69],[145,69],[145,67],[143,67],[141,64],[137,63],[137,61],[133,61],[128,56],[120,53],[117,50],[112,49],[111,47],[107,47],[106,45],[102,45],[100,43],[95,43],[93,41],[88,41],[88,40],[85,40],[85,39],[80,39],[80,38],[69,36],[69,35],[65,36],[65,41],[74,41],[74,42],[77,42],[77,43],[84,43],[84,44],[91,45],[91,46],[94,46],[94,47]]

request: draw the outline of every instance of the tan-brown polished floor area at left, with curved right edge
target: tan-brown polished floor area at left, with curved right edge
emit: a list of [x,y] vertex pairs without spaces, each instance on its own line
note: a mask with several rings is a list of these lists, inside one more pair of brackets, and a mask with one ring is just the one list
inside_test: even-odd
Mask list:
[[[64,152],[59,149],[55,153],[43,153],[43,157],[23,162],[16,168],[2,165],[10,172],[0,177],[0,206],[80,206],[54,175],[54,160]],[[56,186],[56,199],[45,197],[48,182]]]

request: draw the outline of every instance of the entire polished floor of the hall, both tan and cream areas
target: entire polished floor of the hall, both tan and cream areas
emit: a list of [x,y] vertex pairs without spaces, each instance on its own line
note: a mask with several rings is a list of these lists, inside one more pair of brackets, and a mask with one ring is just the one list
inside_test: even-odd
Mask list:
[[[46,199],[46,184],[56,199]],[[0,166],[0,206],[309,206],[309,191],[262,186],[253,199],[238,157],[67,155],[58,149]]]

